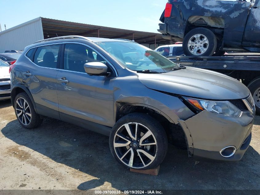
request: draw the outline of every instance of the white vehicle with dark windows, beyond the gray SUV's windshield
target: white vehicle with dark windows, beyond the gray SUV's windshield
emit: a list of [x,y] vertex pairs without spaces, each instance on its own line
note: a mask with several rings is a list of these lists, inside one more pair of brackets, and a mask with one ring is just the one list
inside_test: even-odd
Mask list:
[[157,47],[154,51],[162,56],[184,55],[182,44],[162,45]]

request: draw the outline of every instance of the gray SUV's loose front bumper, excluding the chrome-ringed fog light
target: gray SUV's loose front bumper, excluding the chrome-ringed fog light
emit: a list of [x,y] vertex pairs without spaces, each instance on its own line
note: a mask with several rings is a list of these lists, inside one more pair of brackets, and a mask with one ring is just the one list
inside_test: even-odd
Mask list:
[[[178,120],[186,134],[189,156],[198,161],[236,161],[246,152],[251,141],[254,114],[229,117],[203,111],[187,120]],[[223,157],[220,150],[235,146],[233,156]]]

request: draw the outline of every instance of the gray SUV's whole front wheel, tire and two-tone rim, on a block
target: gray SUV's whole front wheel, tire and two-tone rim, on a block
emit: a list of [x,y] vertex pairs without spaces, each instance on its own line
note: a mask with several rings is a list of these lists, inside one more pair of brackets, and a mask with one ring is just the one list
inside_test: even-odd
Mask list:
[[130,113],[119,119],[112,128],[109,145],[112,155],[120,164],[131,169],[146,170],[162,163],[168,140],[157,120],[147,114]]

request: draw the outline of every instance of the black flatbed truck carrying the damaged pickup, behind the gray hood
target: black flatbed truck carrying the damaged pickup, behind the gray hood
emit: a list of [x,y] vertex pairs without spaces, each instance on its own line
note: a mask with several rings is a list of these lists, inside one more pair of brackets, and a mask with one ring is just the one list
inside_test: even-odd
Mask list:
[[260,114],[259,53],[231,53],[224,56],[168,56],[167,58],[182,66],[204,68],[238,79],[251,91],[256,111]]

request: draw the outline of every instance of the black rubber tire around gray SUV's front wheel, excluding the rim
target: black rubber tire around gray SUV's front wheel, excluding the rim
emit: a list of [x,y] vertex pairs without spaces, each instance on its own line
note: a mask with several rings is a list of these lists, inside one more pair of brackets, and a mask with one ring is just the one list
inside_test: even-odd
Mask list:
[[[145,118],[145,120],[144,120],[144,118]],[[137,123],[145,125],[154,134],[154,137],[157,142],[156,157],[150,165],[148,165],[144,168],[140,168],[140,169],[131,168],[131,167],[125,165],[124,163],[122,163],[121,160],[118,159],[118,156],[114,150],[115,133],[117,132],[118,128],[120,128],[122,125],[124,125],[126,123],[130,123],[130,122],[137,122]],[[122,117],[114,125],[114,127],[112,128],[112,131],[110,133],[109,145],[110,145],[110,150],[111,150],[112,155],[120,164],[122,164],[128,168],[131,168],[131,169],[144,170],[144,169],[153,169],[162,163],[163,159],[165,158],[166,152],[167,152],[168,141],[167,141],[166,133],[158,121],[156,121],[154,118],[150,117],[147,114],[131,113],[131,114],[128,114],[128,115]]]

